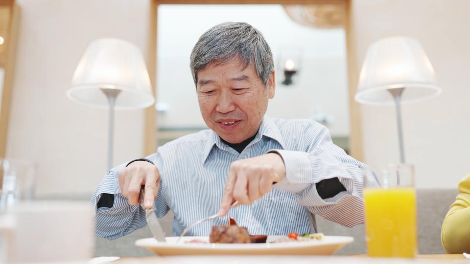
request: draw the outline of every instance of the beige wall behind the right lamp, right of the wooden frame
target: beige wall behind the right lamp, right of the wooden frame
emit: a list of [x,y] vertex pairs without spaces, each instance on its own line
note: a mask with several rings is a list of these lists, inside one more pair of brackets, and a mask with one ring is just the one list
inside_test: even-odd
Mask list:
[[[420,188],[456,188],[470,172],[470,1],[352,0],[358,67],[368,45],[394,35],[418,39],[443,93],[403,107],[405,156],[416,165]],[[393,107],[362,107],[365,161],[397,162]]]

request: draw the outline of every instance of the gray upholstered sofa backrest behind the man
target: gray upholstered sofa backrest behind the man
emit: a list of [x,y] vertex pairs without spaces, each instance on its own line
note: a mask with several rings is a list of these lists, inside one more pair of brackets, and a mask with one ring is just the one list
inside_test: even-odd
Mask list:
[[[423,189],[417,191],[418,206],[418,247],[420,254],[443,254],[441,245],[441,224],[447,214],[450,204],[455,200],[456,189]],[[160,219],[166,234],[172,234],[173,213],[169,212]],[[343,247],[336,254],[364,254],[364,226],[344,227],[334,222],[317,217],[319,232],[329,236],[352,236],[354,242]],[[141,238],[150,237],[147,227],[114,240],[96,239],[96,256],[149,256],[152,253],[138,248],[134,242]]]

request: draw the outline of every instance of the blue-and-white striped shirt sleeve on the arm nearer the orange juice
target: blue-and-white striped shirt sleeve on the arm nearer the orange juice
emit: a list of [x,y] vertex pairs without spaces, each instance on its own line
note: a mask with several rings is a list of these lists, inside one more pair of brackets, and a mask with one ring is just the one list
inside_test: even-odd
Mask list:
[[[273,187],[295,194],[297,203],[314,214],[352,227],[364,223],[363,163],[334,145],[326,127],[308,123],[304,128],[305,151],[271,150],[282,156],[285,178]],[[316,184],[338,178],[346,189],[334,197],[322,199]],[[376,183],[374,175],[368,181]]]

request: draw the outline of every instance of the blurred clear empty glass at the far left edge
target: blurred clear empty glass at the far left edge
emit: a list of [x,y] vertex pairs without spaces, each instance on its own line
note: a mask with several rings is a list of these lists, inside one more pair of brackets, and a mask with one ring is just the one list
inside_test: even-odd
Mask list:
[[0,212],[4,212],[20,200],[34,198],[36,177],[33,163],[0,159],[0,175],[3,178]]

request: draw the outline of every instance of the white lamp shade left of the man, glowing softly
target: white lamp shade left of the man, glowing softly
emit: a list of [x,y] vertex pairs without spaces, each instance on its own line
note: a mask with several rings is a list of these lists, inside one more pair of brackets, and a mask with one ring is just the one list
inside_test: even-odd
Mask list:
[[139,48],[119,39],[99,39],[83,54],[67,91],[71,100],[98,108],[109,108],[101,88],[119,89],[115,108],[138,109],[155,99]]

